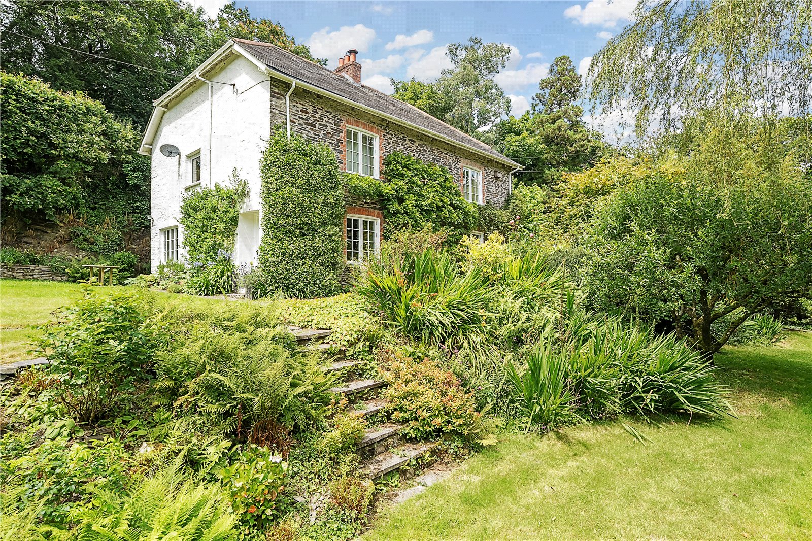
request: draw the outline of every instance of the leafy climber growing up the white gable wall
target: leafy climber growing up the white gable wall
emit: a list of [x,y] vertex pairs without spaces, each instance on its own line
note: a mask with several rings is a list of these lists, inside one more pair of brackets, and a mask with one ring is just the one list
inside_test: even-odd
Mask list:
[[248,197],[248,185],[237,170],[231,173],[231,187],[215,184],[184,197],[180,225],[189,263],[188,292],[214,295],[234,290],[235,266],[231,261],[240,207]]

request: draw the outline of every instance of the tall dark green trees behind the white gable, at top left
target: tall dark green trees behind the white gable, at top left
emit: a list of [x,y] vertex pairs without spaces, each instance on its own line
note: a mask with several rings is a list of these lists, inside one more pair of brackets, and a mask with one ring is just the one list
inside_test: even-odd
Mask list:
[[[54,89],[87,93],[140,126],[149,118],[153,99],[178,82],[180,76],[171,73],[189,73],[231,37],[266,41],[314,59],[279,24],[231,4],[213,18],[172,0],[54,6],[20,0],[2,9],[12,32],[57,44],[6,34],[0,47],[6,71],[39,76]],[[119,63],[93,58],[97,54]]]

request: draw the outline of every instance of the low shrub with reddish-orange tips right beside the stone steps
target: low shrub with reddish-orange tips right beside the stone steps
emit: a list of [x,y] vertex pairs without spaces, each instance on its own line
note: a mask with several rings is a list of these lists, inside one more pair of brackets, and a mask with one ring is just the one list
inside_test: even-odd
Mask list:
[[392,418],[403,422],[406,438],[431,439],[456,435],[473,439],[481,428],[481,413],[473,394],[437,361],[415,360],[398,353],[385,358],[383,379],[389,383],[384,396],[391,401]]

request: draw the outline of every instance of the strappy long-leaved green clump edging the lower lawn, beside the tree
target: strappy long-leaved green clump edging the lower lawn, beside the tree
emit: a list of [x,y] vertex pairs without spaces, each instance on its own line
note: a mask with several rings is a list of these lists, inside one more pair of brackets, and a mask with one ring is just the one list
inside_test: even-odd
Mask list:
[[732,414],[715,370],[685,342],[590,317],[572,301],[525,362],[509,375],[527,429],[619,413]]

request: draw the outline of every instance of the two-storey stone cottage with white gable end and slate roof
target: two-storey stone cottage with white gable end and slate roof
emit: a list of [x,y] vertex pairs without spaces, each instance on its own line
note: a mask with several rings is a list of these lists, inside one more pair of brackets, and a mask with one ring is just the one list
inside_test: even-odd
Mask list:
[[[261,155],[274,126],[326,143],[341,171],[386,179],[395,151],[446,167],[465,199],[503,206],[520,166],[423,111],[361,83],[356,50],[327,69],[274,45],[232,39],[153,102],[140,154],[152,156],[152,265],[184,258],[184,193],[222,184],[233,169],[248,182],[235,262],[256,262],[261,239]],[[347,207],[347,258],[377,251],[382,212]]]

